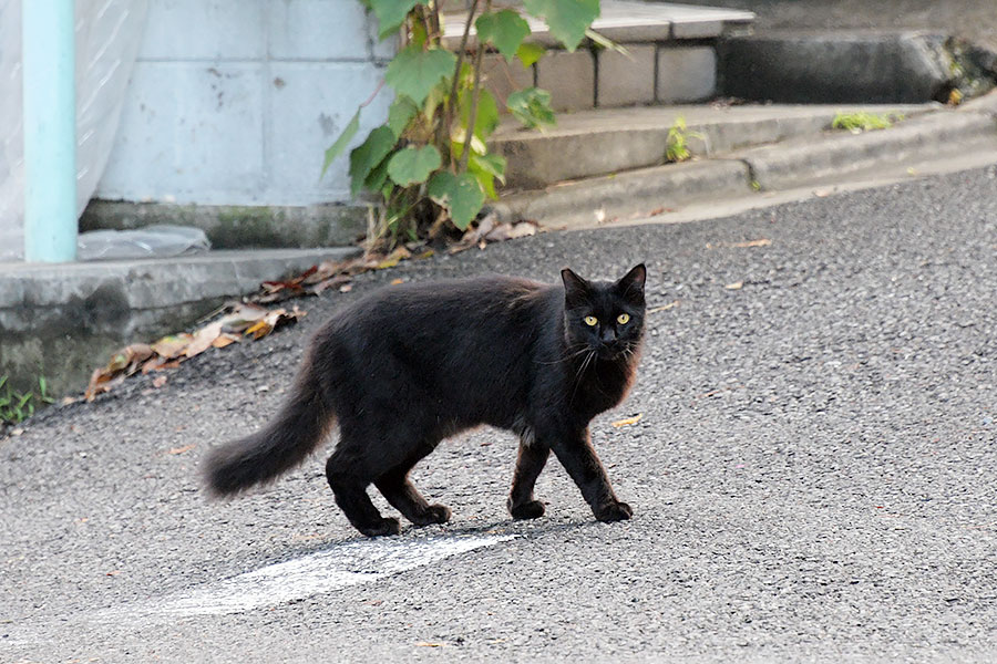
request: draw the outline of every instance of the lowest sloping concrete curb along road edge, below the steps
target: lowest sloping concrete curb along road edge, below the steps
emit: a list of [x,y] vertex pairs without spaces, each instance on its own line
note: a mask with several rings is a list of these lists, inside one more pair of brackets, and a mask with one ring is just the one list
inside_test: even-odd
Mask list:
[[[503,221],[530,219],[548,228],[586,228],[659,216],[666,220],[696,205],[740,200],[748,209],[773,194],[914,177],[931,173],[936,164],[956,162],[970,167],[993,163],[997,155],[997,93],[959,110],[912,114],[916,116],[886,129],[861,134],[814,131],[681,164],[512,191],[492,210]],[[593,154],[597,154],[595,149]],[[575,158],[568,154],[562,160]]]

